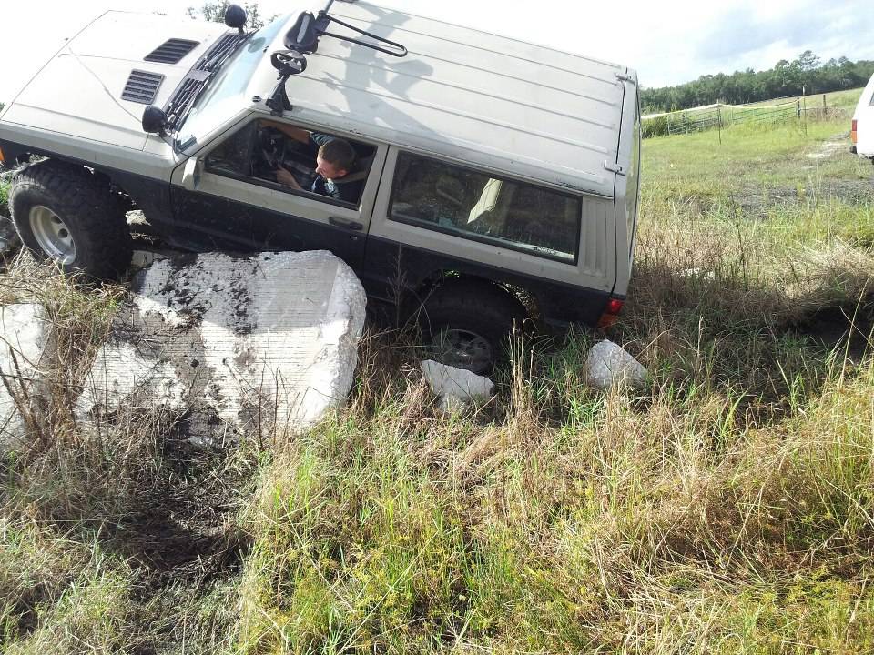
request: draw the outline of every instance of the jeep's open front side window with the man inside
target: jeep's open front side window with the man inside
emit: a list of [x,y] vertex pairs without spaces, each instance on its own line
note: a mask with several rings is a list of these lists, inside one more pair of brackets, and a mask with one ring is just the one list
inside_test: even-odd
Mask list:
[[343,136],[256,120],[206,158],[206,170],[346,206],[361,202],[374,146]]

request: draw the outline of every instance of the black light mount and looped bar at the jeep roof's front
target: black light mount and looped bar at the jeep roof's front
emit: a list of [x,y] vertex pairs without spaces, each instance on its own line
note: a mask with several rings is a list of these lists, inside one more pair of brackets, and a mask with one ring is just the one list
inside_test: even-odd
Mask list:
[[[354,0],[342,0],[343,2],[354,2]],[[382,36],[377,36],[344,23],[339,18],[330,15],[331,5],[334,0],[329,0],[328,5],[322,9],[318,15],[312,15],[311,12],[302,12],[298,19],[291,26],[291,29],[286,33],[284,45],[285,50],[277,50],[270,55],[270,63],[279,71],[277,77],[277,85],[270,92],[267,99],[267,106],[270,108],[270,113],[273,116],[282,116],[282,112],[291,109],[291,103],[288,93],[285,89],[286,82],[291,76],[300,75],[307,69],[307,56],[316,52],[319,49],[319,39],[322,36],[330,36],[331,38],[348,41],[349,43],[363,45],[372,50],[384,53],[386,55],[404,57],[407,55],[407,48],[399,43],[390,41]],[[362,40],[351,35],[334,34],[328,31],[331,23],[342,25],[352,32],[357,32],[360,35],[367,36],[369,40]]]

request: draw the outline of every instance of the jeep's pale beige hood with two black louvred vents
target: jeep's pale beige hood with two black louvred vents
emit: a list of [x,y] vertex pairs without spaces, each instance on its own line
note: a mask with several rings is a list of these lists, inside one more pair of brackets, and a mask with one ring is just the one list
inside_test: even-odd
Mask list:
[[141,150],[147,140],[143,110],[148,104],[163,106],[227,31],[218,23],[107,12],[27,83],[6,108],[3,122]]

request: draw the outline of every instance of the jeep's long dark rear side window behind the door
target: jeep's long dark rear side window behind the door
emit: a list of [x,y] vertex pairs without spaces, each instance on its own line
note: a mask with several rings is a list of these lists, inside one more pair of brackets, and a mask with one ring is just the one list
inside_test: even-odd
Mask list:
[[398,155],[389,208],[394,221],[574,263],[581,215],[578,197]]

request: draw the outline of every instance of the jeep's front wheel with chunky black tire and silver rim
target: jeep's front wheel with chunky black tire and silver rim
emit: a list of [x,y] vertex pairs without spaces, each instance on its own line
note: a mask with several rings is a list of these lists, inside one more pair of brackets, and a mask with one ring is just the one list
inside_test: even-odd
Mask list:
[[125,216],[86,168],[52,160],[28,166],[15,176],[9,208],[25,247],[67,273],[110,279],[130,264]]

